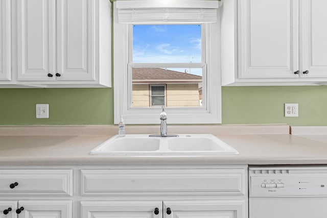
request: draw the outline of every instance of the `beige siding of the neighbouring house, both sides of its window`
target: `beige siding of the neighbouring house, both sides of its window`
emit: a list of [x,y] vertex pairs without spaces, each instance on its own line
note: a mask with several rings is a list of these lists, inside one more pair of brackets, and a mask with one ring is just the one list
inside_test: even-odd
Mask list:
[[[167,107],[198,107],[198,83],[166,84]],[[150,107],[150,85],[133,84],[132,107]]]

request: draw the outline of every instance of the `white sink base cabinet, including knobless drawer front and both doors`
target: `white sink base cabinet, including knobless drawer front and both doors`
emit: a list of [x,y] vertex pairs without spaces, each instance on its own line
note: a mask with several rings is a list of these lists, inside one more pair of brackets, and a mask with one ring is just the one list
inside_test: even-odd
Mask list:
[[247,166],[81,169],[82,218],[247,218]]

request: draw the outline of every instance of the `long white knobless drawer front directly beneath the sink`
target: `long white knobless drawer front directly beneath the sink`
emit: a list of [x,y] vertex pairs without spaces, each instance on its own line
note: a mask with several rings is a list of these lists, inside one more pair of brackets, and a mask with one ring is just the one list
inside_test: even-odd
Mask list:
[[244,195],[244,169],[82,169],[81,195]]

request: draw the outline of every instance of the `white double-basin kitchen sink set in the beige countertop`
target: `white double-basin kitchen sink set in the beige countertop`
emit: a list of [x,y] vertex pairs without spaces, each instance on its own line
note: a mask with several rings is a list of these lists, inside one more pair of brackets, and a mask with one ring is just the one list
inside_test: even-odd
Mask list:
[[223,155],[238,151],[212,134],[180,134],[178,137],[149,137],[149,134],[115,135],[90,155]]

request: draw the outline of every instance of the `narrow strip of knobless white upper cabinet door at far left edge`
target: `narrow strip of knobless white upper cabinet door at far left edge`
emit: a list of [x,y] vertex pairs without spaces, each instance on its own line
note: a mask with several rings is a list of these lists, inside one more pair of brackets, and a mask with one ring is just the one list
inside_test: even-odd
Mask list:
[[10,0],[0,2],[0,81],[11,80]]

